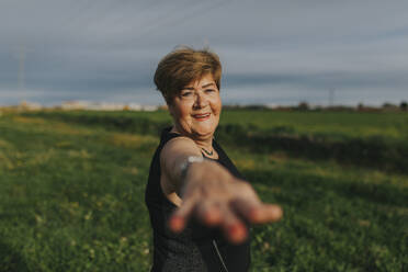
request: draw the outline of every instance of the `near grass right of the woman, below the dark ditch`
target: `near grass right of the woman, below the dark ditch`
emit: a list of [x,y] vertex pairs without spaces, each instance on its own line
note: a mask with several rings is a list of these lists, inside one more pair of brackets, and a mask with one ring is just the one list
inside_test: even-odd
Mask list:
[[281,223],[254,228],[253,271],[401,270],[407,177],[280,155],[237,162],[262,200],[285,212]]

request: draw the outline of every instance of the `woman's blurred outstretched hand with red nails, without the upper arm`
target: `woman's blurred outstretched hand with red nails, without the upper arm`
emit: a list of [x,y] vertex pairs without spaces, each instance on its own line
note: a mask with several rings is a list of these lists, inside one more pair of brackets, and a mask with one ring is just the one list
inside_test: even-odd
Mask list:
[[215,162],[193,163],[185,177],[182,205],[169,220],[180,233],[194,215],[207,226],[219,226],[233,243],[247,238],[242,219],[253,224],[276,222],[282,217],[277,205],[263,204],[251,185],[234,178]]

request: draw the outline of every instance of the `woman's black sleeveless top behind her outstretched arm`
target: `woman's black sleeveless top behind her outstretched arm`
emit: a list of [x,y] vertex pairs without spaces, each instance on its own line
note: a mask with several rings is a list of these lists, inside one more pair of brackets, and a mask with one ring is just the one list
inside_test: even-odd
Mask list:
[[[250,264],[249,239],[241,245],[230,245],[219,228],[202,226],[194,218],[181,234],[168,228],[168,219],[177,206],[163,194],[160,186],[160,152],[167,141],[179,134],[170,133],[171,127],[161,134],[149,171],[145,201],[149,209],[154,230],[154,264],[151,272],[247,272]],[[233,161],[220,146],[213,140],[218,154],[218,163],[242,179]]]

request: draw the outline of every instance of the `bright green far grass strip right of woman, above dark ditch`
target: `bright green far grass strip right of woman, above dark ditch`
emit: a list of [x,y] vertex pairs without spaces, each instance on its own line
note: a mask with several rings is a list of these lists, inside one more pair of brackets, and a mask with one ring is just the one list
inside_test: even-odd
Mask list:
[[408,114],[361,112],[226,111],[222,122],[253,124],[263,129],[286,127],[298,134],[340,137],[382,136],[408,139]]

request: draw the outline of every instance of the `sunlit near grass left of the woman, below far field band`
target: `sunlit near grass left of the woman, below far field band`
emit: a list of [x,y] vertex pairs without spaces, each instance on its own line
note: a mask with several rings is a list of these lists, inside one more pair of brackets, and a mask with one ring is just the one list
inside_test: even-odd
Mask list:
[[0,129],[0,271],[148,270],[156,138],[19,116]]

